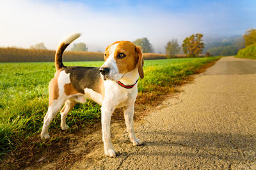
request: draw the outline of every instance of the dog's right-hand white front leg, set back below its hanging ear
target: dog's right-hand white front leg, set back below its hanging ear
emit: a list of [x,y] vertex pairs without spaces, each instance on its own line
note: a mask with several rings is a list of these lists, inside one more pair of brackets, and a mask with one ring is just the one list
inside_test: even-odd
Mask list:
[[124,118],[125,118],[127,132],[129,134],[129,138],[133,146],[138,146],[138,145],[141,145],[142,142],[140,139],[135,137],[134,127],[133,127],[133,115],[134,115],[134,104],[130,106],[124,106]]

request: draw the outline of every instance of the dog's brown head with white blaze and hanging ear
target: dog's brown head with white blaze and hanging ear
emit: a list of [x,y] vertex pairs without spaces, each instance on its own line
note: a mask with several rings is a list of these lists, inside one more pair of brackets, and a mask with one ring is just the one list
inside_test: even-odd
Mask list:
[[134,69],[138,69],[140,78],[144,78],[141,48],[130,41],[116,41],[109,45],[104,53],[104,60],[100,67],[104,80],[118,81]]

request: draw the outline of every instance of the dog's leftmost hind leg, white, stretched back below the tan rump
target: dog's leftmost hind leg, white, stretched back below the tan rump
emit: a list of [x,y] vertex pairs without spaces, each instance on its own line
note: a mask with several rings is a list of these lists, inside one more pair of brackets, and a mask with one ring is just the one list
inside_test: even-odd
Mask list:
[[65,102],[66,99],[58,99],[52,102],[51,106],[49,106],[48,111],[44,117],[44,125],[42,127],[42,132],[41,132],[41,139],[46,139],[50,138],[49,136],[49,125],[52,122],[52,119],[56,117],[58,111],[60,111],[61,106]]

